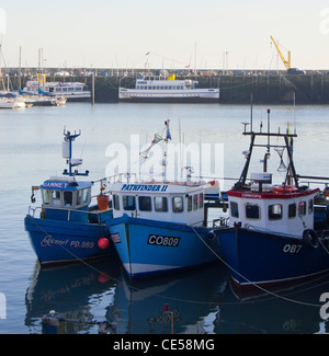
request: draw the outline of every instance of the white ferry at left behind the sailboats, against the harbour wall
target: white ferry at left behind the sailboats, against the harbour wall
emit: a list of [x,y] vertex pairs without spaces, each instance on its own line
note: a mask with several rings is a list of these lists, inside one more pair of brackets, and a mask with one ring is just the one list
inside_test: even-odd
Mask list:
[[65,96],[67,101],[88,101],[91,99],[91,91],[88,85],[80,82],[45,82],[38,83],[36,80],[26,82],[24,92],[38,94],[38,89],[42,89],[54,96]]

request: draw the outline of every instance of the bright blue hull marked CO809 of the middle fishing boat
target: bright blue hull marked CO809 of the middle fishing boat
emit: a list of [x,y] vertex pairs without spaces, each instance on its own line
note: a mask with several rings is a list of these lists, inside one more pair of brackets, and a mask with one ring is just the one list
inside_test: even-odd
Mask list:
[[219,244],[211,229],[131,217],[109,227],[116,252],[131,279],[170,273],[218,261]]

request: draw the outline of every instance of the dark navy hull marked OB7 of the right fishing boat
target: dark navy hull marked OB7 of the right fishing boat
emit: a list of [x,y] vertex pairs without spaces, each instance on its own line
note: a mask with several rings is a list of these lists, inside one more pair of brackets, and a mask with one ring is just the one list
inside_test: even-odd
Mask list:
[[[313,277],[329,271],[329,255],[321,243],[313,249],[302,238],[237,228],[218,234],[223,256],[238,291],[270,287]],[[324,242],[328,249],[328,241]]]

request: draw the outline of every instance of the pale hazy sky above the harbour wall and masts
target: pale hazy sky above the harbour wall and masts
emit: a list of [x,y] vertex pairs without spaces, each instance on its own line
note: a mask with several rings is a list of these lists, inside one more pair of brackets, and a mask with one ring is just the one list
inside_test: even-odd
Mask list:
[[[0,0],[7,67],[329,69],[328,0]],[[2,64],[3,65],[3,64]]]

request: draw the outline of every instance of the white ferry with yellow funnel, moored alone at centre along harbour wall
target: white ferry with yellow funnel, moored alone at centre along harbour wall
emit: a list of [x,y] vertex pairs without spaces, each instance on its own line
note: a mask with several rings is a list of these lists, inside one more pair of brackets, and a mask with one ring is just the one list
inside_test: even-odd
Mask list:
[[175,80],[174,74],[143,76],[135,89],[120,88],[118,100],[127,102],[218,103],[219,89],[197,88],[197,81]]

